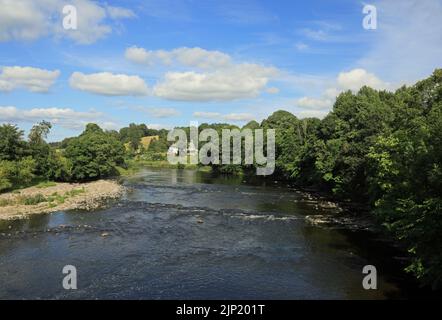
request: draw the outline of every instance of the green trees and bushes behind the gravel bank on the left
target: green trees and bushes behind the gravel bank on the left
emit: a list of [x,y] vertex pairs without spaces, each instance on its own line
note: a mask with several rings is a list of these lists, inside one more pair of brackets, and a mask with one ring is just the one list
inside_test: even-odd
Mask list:
[[0,192],[42,180],[99,179],[124,166],[123,144],[97,125],[89,124],[79,137],[52,146],[45,141],[50,129],[51,124],[42,121],[25,140],[16,126],[0,126]]

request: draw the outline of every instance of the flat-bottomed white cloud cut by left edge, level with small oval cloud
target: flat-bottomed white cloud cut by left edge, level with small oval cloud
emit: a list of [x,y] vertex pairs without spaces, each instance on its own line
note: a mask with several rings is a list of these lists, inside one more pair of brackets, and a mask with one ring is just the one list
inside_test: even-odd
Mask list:
[[3,67],[0,73],[0,91],[25,88],[31,92],[48,92],[60,71],[32,67]]

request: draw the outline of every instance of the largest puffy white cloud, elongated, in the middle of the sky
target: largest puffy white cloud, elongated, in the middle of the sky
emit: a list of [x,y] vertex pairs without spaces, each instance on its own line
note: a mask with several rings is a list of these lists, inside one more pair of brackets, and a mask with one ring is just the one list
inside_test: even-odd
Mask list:
[[276,74],[276,69],[256,64],[240,64],[209,73],[168,72],[153,92],[161,98],[181,101],[253,98]]

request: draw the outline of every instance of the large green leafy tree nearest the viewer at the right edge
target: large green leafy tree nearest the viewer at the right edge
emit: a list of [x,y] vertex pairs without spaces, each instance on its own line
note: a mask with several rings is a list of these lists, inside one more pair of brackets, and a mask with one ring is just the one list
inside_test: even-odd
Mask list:
[[442,70],[397,92],[398,120],[370,148],[378,219],[413,257],[407,271],[442,286]]

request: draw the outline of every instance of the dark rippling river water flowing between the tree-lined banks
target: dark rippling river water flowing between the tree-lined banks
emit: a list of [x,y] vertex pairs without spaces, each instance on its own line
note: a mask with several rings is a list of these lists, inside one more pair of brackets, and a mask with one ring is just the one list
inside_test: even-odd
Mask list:
[[[278,184],[145,169],[111,207],[0,222],[0,299],[385,299],[405,297],[369,235],[308,225],[320,214]],[[362,269],[378,270],[364,290]],[[62,269],[77,269],[65,290]]]

